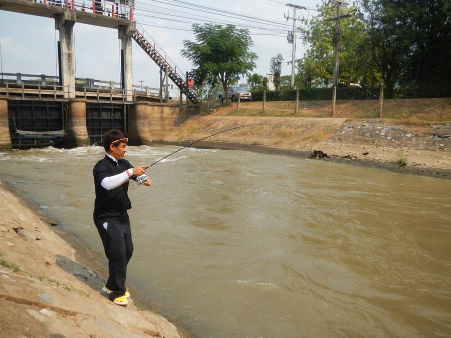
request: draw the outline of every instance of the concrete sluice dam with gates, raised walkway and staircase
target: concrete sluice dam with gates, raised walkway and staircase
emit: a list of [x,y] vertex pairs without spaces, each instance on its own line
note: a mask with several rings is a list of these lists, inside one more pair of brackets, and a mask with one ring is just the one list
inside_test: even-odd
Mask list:
[[[111,128],[124,130],[132,145],[149,144],[162,140],[187,116],[198,113],[199,101],[188,88],[187,79],[177,74],[175,67],[136,30],[132,0],[84,4],[69,0],[0,0],[0,10],[51,18],[59,31],[59,76],[2,74],[0,149],[98,144]],[[72,28],[76,23],[117,30],[120,83],[75,78]],[[160,77],[164,74],[166,78],[165,89],[160,86],[152,92],[132,84],[132,40],[159,66]],[[168,79],[180,89],[180,97],[185,95],[185,104],[168,103]]]

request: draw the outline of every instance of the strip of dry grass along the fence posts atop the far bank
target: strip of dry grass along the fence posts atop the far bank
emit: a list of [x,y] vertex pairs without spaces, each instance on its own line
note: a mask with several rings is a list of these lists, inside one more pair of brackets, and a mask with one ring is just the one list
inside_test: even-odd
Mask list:
[[[295,114],[293,101],[231,103],[216,108],[215,116],[331,117],[331,101],[300,101]],[[378,100],[337,101],[334,117],[354,119],[378,118]],[[384,100],[382,118],[396,123],[424,126],[451,121],[451,98]]]

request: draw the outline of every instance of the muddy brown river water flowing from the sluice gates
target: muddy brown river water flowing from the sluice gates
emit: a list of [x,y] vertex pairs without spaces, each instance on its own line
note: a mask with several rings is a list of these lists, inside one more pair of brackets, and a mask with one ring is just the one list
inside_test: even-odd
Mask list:
[[[0,153],[0,177],[103,254],[92,223],[103,156]],[[194,336],[451,336],[451,180],[199,149],[148,173],[151,187],[129,188],[128,281]]]

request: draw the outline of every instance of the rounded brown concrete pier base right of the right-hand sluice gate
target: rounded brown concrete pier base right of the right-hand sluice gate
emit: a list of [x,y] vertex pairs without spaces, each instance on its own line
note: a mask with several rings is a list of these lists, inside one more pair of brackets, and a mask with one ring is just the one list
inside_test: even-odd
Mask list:
[[149,105],[136,102],[128,110],[128,141],[130,145],[150,145],[152,135],[149,127]]

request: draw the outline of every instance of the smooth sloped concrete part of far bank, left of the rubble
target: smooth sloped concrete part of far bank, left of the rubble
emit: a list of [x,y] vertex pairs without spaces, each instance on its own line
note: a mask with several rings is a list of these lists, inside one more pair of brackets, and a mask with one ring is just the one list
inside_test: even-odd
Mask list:
[[345,119],[287,117],[190,116],[163,138],[167,143],[222,147],[271,153],[310,154],[316,145],[340,129]]

